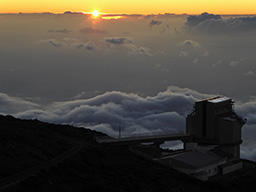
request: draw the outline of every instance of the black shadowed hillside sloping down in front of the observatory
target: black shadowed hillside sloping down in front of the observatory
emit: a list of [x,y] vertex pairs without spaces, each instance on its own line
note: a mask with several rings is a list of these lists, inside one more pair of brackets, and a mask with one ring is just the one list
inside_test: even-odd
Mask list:
[[0,116],[0,191],[256,191],[256,166],[202,182],[137,156],[103,146],[102,133],[38,120]]

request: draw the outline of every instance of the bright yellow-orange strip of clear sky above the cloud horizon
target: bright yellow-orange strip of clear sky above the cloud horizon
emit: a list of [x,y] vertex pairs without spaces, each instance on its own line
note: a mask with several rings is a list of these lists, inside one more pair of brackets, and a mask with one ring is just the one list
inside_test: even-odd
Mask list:
[[255,14],[256,1],[253,0],[0,0],[0,13],[31,13],[69,11],[126,14]]

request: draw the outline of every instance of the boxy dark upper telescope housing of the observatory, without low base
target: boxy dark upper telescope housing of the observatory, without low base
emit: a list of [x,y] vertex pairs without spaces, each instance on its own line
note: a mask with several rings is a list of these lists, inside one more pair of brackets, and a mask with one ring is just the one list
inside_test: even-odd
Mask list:
[[186,132],[199,145],[218,145],[218,148],[240,158],[241,128],[245,120],[237,116],[234,102],[227,97],[214,97],[196,102],[187,116]]

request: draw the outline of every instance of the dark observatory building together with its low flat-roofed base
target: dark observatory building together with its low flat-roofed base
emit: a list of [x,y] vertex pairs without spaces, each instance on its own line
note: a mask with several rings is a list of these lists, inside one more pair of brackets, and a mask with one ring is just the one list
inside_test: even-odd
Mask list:
[[162,158],[169,166],[201,180],[242,168],[241,129],[245,120],[234,112],[227,97],[197,101],[186,118],[186,133],[181,153]]

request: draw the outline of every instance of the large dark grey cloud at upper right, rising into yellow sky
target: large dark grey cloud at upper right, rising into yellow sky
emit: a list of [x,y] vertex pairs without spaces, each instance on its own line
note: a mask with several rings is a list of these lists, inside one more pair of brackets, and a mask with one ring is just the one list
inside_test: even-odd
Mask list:
[[222,19],[220,15],[202,13],[199,16],[189,16],[185,25],[207,33],[250,32],[256,30],[256,17]]

